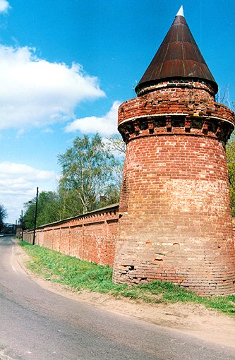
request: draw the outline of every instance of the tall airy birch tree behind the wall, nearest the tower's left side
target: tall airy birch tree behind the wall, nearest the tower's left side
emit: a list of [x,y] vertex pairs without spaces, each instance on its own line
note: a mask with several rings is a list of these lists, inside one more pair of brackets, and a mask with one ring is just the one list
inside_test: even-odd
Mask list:
[[59,194],[64,199],[64,207],[71,207],[71,211],[66,212],[69,216],[109,205],[111,199],[119,200],[121,162],[107,149],[98,133],[92,138],[78,136],[71,148],[58,155],[58,161],[62,167]]

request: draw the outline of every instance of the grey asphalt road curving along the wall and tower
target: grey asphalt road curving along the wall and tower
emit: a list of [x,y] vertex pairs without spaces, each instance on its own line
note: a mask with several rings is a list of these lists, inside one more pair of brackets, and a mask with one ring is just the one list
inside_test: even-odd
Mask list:
[[235,360],[235,351],[43,289],[0,240],[1,360]]

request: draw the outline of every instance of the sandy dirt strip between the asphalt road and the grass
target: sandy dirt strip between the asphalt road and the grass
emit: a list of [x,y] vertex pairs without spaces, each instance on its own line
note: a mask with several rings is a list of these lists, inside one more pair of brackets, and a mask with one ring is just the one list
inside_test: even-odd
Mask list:
[[174,329],[179,332],[209,340],[235,349],[235,318],[208,310],[202,305],[195,304],[145,304],[128,299],[114,299],[107,294],[93,292],[75,292],[61,284],[42,280],[25,268],[24,262],[28,256],[16,244],[14,253],[21,267],[41,287],[55,292],[69,299],[83,301],[86,304],[105,308],[108,311],[123,316],[133,316],[149,323]]

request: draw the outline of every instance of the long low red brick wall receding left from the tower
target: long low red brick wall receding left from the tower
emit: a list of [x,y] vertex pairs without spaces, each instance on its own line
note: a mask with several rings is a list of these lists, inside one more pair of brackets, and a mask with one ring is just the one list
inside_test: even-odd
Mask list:
[[[112,266],[119,205],[38,227],[35,244],[101,265]],[[32,244],[33,231],[23,234]]]

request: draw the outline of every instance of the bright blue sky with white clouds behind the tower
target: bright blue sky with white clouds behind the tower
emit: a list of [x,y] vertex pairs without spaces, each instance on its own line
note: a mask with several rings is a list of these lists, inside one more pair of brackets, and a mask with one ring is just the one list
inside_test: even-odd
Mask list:
[[[234,0],[0,0],[0,204],[55,191],[76,136],[117,133],[117,109],[183,4],[220,98],[235,101]],[[224,96],[225,95],[225,96]]]

